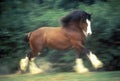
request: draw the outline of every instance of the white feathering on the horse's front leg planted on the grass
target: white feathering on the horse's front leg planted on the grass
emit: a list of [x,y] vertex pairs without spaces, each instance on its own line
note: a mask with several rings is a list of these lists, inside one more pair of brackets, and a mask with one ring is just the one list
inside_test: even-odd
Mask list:
[[82,59],[76,59],[76,66],[74,69],[77,73],[89,72],[89,69],[84,66]]

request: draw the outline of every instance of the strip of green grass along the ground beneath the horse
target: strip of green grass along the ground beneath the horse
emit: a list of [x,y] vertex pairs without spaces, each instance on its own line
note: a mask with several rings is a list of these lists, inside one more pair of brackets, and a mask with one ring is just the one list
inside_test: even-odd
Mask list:
[[119,72],[44,73],[2,75],[0,81],[120,81]]

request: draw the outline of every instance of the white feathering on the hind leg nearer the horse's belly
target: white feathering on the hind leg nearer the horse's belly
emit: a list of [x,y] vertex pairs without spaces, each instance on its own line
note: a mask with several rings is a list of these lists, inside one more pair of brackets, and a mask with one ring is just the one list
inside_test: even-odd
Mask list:
[[29,66],[29,71],[31,74],[37,74],[37,73],[42,73],[43,71],[37,67],[37,65],[34,62],[35,58],[31,59],[30,66]]

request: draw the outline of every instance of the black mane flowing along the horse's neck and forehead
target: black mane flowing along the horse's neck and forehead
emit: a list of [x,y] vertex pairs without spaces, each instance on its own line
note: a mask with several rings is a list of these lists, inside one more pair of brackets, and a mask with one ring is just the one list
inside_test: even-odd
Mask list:
[[86,22],[86,19],[90,20],[90,14],[86,13],[85,11],[82,10],[75,10],[72,11],[70,14],[66,15],[61,19],[61,23],[63,27],[68,27],[70,22]]

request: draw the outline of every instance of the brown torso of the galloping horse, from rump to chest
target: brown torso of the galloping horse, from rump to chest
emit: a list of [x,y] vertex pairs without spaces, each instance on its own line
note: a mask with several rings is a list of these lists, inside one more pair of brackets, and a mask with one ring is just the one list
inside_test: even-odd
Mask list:
[[[85,41],[84,33],[79,29],[64,27],[42,27],[31,32],[29,44],[35,56],[45,47],[64,50],[68,48],[83,48]],[[31,56],[32,57],[32,56]]]

